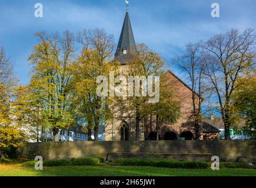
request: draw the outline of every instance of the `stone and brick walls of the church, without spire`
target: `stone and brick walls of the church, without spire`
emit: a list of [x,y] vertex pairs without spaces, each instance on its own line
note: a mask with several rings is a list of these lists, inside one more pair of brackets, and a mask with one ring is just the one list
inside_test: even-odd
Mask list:
[[[128,66],[127,65],[122,65],[121,66],[121,74],[125,75],[125,72],[127,72]],[[164,138],[164,135],[166,132],[172,131],[174,132],[177,137],[180,137],[182,132],[189,131],[193,135],[195,135],[195,130],[194,130],[194,125],[191,123],[188,123],[192,121],[192,110],[193,110],[193,105],[192,105],[192,91],[189,89],[184,83],[182,83],[181,80],[179,80],[177,77],[175,77],[171,72],[167,72],[165,74],[165,79],[164,82],[167,82],[167,84],[174,89],[175,93],[175,98],[177,100],[181,101],[181,116],[177,120],[176,123],[174,124],[169,124],[169,125],[163,125],[159,131],[159,135],[161,138]],[[199,98],[197,98],[199,100]],[[118,112],[119,109],[115,108],[115,113],[114,113],[114,140],[120,140],[120,135],[119,135],[119,129],[122,126],[122,121],[121,119],[118,119]],[[152,123],[150,123],[150,117],[147,116],[145,119],[145,123],[143,120],[141,120],[141,127],[140,127],[140,140],[147,139],[148,135],[150,132],[155,131],[155,117],[152,117]],[[131,132],[130,132],[130,139],[135,140],[135,130],[134,130],[134,120],[131,121],[130,119],[125,119],[126,122],[130,123]],[[145,130],[145,135],[144,135],[144,130]],[[109,120],[106,123],[105,126],[105,140],[112,140],[112,121]]]

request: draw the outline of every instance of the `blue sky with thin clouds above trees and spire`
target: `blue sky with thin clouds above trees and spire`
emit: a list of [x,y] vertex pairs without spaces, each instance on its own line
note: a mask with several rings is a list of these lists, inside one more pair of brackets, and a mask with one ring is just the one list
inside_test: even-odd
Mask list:
[[[34,5],[44,6],[35,18]],[[220,18],[211,17],[211,4],[220,4]],[[256,28],[255,0],[130,0],[129,15],[135,41],[146,43],[167,62],[181,55],[189,42],[237,28]],[[104,28],[118,42],[125,16],[124,0],[0,0],[0,46],[15,65],[19,83],[29,82],[26,58],[38,41],[35,32]],[[179,77],[182,72],[169,63]]]

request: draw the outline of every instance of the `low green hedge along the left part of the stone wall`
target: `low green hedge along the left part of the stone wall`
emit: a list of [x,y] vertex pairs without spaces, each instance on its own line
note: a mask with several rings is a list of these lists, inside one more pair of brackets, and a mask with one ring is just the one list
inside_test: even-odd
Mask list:
[[[45,160],[43,166],[86,166],[86,165],[100,165],[104,159],[91,157],[84,159],[71,159],[71,160]],[[35,166],[36,161],[28,161],[22,163],[24,166]]]

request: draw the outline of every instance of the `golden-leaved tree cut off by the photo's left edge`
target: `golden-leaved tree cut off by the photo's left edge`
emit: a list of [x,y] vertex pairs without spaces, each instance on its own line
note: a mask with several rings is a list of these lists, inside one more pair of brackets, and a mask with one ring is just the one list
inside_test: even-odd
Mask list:
[[11,155],[23,145],[24,133],[15,123],[12,98],[16,79],[4,48],[0,48],[0,156]]

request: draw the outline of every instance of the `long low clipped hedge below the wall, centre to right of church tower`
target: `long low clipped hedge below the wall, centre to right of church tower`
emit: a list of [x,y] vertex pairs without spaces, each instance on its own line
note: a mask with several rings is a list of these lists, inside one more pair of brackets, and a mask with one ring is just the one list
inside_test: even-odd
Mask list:
[[207,169],[210,164],[201,161],[174,161],[169,159],[127,159],[121,158],[115,160],[114,164],[121,166],[154,166],[169,167],[172,169]]

